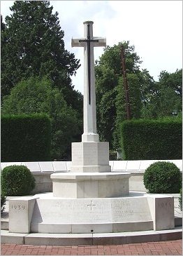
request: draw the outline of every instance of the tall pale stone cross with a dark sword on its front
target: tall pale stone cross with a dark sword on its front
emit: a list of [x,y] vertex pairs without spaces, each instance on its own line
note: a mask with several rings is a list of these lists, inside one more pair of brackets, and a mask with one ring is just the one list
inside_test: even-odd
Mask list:
[[82,134],[82,142],[98,142],[98,134],[96,133],[94,47],[106,46],[106,39],[93,36],[94,22],[86,21],[83,24],[85,38],[72,39],[71,41],[72,47],[84,47],[84,133]]

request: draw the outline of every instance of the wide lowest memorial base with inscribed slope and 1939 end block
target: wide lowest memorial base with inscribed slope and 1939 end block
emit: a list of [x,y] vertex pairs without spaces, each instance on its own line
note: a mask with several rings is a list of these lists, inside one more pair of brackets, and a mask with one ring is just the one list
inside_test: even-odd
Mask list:
[[52,193],[9,201],[9,231],[110,233],[174,229],[173,197],[133,193],[119,198],[60,198]]

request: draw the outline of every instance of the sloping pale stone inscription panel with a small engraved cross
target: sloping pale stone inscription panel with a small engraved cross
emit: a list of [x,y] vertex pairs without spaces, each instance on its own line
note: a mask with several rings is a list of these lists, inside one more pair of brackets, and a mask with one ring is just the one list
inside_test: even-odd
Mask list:
[[38,199],[32,219],[36,223],[65,224],[145,220],[152,220],[147,198]]

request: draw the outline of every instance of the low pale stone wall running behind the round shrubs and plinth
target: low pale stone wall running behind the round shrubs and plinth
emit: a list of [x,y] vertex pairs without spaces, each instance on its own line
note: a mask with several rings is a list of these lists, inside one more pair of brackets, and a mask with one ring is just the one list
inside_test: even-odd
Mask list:
[[[129,179],[130,191],[146,191],[143,184],[143,174],[145,173],[146,168],[156,161],[175,163],[175,165],[182,171],[182,160],[110,161],[110,166],[114,173],[131,173]],[[12,165],[27,166],[27,168],[31,170],[36,179],[34,193],[51,192],[52,180],[50,179],[50,175],[52,173],[66,173],[71,170],[71,161],[1,163],[1,170],[6,166]]]

